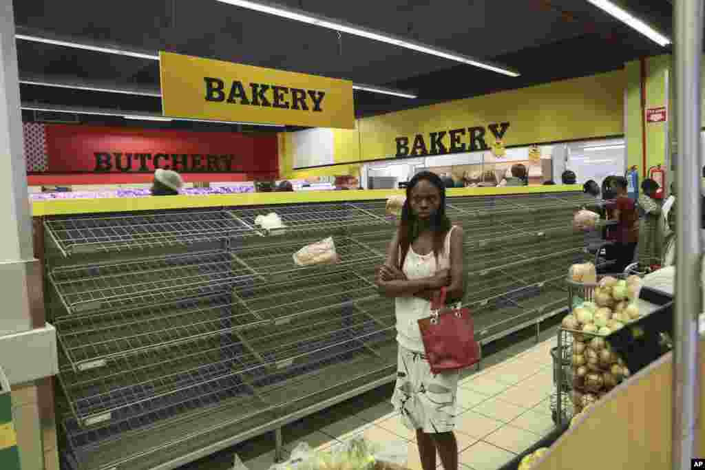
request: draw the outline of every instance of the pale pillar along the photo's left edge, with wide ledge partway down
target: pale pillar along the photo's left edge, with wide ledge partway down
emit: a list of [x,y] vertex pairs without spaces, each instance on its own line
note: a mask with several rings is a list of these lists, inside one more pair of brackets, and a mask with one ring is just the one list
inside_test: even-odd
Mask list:
[[[12,0],[0,0],[0,361],[11,385],[23,469],[58,469],[51,400],[56,334],[44,321],[27,196]],[[48,452],[45,452],[48,451]]]

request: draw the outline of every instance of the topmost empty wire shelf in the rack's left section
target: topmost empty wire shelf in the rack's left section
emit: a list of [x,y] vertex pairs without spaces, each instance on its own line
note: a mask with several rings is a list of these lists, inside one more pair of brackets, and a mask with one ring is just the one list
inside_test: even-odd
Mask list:
[[191,245],[252,235],[250,228],[219,210],[68,216],[51,218],[44,224],[63,256]]

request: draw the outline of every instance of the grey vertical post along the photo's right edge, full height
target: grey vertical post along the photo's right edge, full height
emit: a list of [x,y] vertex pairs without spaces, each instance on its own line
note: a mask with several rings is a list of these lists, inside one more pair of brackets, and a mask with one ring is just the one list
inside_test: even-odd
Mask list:
[[676,278],[673,333],[673,469],[691,468],[699,426],[698,319],[702,312],[700,175],[702,168],[701,75],[702,0],[673,5],[675,85]]

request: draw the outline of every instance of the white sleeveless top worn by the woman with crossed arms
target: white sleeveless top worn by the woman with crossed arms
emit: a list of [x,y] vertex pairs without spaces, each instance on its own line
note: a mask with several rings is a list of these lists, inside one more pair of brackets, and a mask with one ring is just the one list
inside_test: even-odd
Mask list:
[[[455,225],[448,230],[443,251],[439,253],[438,266],[434,252],[422,256],[409,247],[403,267],[407,279],[429,278],[436,271],[450,268],[450,233],[454,228]],[[431,302],[418,297],[396,297],[395,313],[397,342],[407,350],[424,352],[418,321],[431,316]]]

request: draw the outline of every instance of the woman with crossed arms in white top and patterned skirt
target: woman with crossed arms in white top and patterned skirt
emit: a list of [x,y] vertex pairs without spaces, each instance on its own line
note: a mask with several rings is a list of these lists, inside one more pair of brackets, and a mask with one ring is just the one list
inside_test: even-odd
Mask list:
[[459,372],[431,373],[417,321],[431,315],[431,297],[447,287],[450,302],[462,299],[462,228],[446,217],[446,188],[435,173],[418,173],[406,188],[399,228],[376,283],[396,299],[398,378],[392,403],[416,431],[424,470],[458,469],[453,434]]

